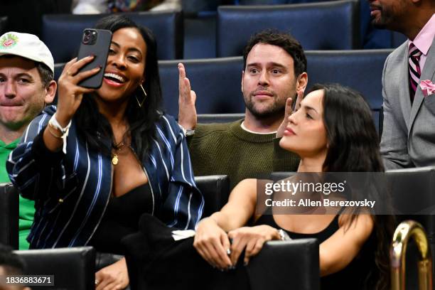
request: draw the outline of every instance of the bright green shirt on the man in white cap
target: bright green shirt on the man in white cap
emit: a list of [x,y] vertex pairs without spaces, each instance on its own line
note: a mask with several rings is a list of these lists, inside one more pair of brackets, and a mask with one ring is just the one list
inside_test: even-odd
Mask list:
[[[11,182],[8,173],[6,172],[6,159],[12,150],[16,148],[20,139],[5,144],[0,140],[0,183]],[[33,216],[35,215],[35,203],[33,200],[28,200],[19,196],[19,220],[18,220],[18,247],[19,249],[28,249],[28,242],[26,240],[30,233],[30,228],[33,223]]]

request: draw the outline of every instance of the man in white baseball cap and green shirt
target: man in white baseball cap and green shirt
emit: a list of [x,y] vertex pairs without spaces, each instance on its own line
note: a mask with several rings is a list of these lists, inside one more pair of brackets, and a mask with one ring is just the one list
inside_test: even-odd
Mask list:
[[[37,36],[7,32],[0,36],[0,183],[9,182],[6,159],[18,145],[27,125],[56,92],[54,60]],[[28,249],[26,237],[33,223],[33,200],[20,196],[19,249]]]

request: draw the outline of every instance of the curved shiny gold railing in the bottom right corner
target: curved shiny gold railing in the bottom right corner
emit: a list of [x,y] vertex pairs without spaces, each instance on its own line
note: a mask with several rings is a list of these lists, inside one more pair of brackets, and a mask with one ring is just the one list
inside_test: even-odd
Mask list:
[[406,220],[397,226],[390,249],[391,289],[405,289],[405,256],[409,238],[413,238],[419,251],[419,290],[432,289],[432,256],[426,232],[413,220]]

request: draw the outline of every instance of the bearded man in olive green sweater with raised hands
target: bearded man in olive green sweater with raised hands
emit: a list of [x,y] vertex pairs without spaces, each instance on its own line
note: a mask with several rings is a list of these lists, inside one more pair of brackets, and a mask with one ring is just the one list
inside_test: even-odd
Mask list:
[[[178,65],[178,122],[188,136],[195,176],[225,174],[231,188],[245,178],[273,171],[296,171],[299,157],[279,147],[279,138],[304,95],[308,76],[304,50],[286,33],[262,31],[243,55],[242,93],[245,119],[225,124],[198,124],[195,99],[182,64]],[[193,131],[195,129],[195,131]]]

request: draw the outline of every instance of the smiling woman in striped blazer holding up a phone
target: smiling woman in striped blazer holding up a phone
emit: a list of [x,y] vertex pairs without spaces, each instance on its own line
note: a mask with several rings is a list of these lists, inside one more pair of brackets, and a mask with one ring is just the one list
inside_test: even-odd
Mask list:
[[[79,85],[100,70],[80,71],[92,55],[67,63],[57,109],[31,122],[7,164],[21,194],[36,200],[33,249],[91,245],[124,254],[121,240],[142,214],[193,229],[203,210],[183,131],[160,109],[154,36],[125,16],[95,28],[113,33],[101,87]],[[95,277],[98,290],[124,289],[125,259]]]

